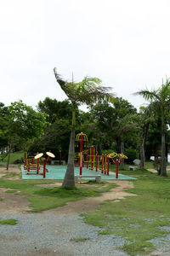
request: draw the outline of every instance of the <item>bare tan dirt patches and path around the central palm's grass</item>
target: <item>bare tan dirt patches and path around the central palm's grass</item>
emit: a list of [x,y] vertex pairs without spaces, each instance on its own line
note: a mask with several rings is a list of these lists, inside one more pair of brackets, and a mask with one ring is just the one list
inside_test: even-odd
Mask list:
[[[7,173],[15,172],[20,173],[20,169],[18,167],[10,167],[7,171],[6,168],[0,167],[0,177],[3,177]],[[15,177],[10,177],[15,178]],[[99,206],[103,201],[118,201],[124,198],[127,195],[132,195],[124,191],[124,189],[133,188],[133,183],[129,181],[122,180],[114,180],[114,183],[119,186],[115,189],[111,189],[110,192],[106,192],[101,196],[88,197],[80,201],[71,201],[66,204],[65,207],[57,207],[44,212],[58,212],[59,214],[63,213],[77,213],[80,214],[82,212],[91,212],[94,211],[96,207]],[[60,186],[61,183],[52,183],[52,184],[44,184],[41,185],[43,187],[52,187],[52,186]],[[81,183],[82,186],[87,186],[86,183]],[[0,212],[26,212],[29,210],[28,204],[24,195],[13,195],[6,193],[8,189],[0,188],[0,198],[3,201],[0,201]],[[20,191],[18,191],[20,193]]]

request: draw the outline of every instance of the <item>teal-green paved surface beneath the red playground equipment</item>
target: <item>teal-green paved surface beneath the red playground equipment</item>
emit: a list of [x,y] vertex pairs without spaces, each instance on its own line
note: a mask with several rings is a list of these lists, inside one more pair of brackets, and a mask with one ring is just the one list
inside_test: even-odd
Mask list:
[[[35,172],[33,174],[26,174],[26,170],[24,170],[24,166],[21,166],[22,178],[23,179],[63,179],[65,177],[66,166],[46,166],[48,172],[46,172],[46,177],[43,178],[42,175],[36,175],[36,171],[31,170],[31,172]],[[42,168],[40,169],[40,173],[42,172]],[[79,167],[75,167],[75,175],[79,175],[80,169]],[[82,175],[101,175],[102,180],[114,180],[116,179],[115,172],[110,172],[110,175],[102,174],[101,172],[95,172],[92,170],[88,170],[86,167],[82,168]],[[83,179],[94,179],[93,177],[83,178]],[[118,179],[135,179],[135,177],[129,177],[127,175],[119,174]]]

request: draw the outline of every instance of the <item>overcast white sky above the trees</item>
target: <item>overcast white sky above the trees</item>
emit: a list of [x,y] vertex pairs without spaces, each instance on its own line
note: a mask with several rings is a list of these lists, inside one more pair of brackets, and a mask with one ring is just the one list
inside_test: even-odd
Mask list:
[[0,102],[64,100],[64,79],[98,77],[138,108],[133,92],[170,77],[169,0],[0,0]]

